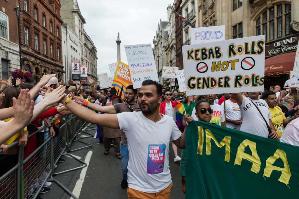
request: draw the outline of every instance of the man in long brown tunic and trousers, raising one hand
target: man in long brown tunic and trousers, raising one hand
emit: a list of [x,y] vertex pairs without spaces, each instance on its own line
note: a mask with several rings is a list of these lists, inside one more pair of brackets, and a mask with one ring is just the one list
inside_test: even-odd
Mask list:
[[[91,91],[92,94],[95,96],[96,99],[99,100],[100,103],[102,103],[103,106],[111,106],[120,102],[123,102],[122,99],[120,99],[117,96],[113,96],[110,94],[110,88],[107,89],[107,96],[103,96],[101,94],[98,94],[96,89],[94,88],[94,79],[87,77],[88,82],[91,85]],[[91,103],[90,103],[91,104]],[[102,126],[101,131],[103,131],[103,144],[104,144],[104,154],[108,155],[109,154],[109,149],[110,149],[110,143],[112,143],[113,140],[113,149],[114,149],[114,154],[118,159],[120,159],[120,137],[121,137],[121,131],[118,129],[112,129],[108,128],[106,126]]]

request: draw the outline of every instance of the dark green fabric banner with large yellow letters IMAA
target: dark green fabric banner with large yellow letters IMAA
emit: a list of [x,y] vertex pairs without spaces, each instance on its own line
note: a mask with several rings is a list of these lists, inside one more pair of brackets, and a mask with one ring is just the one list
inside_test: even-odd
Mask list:
[[299,147],[192,121],[186,198],[299,198],[298,157]]

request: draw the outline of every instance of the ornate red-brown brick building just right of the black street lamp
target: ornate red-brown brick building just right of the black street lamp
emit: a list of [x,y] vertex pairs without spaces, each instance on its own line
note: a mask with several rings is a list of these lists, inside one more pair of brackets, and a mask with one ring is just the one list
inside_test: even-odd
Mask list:
[[[62,40],[59,0],[19,0],[22,69],[34,75],[58,74],[62,79]],[[29,58],[29,59],[27,59]]]

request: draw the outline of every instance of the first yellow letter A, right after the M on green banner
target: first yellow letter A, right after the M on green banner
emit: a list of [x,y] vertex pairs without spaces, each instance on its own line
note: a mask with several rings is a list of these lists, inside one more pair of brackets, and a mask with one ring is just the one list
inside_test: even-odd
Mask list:
[[[249,146],[252,155],[244,153],[244,149],[246,146]],[[261,160],[260,157],[257,155],[257,144],[250,140],[245,139],[238,147],[237,155],[235,159],[235,164],[241,165],[242,159],[248,160],[252,162],[252,166],[250,171],[254,173],[258,173],[261,168]]]

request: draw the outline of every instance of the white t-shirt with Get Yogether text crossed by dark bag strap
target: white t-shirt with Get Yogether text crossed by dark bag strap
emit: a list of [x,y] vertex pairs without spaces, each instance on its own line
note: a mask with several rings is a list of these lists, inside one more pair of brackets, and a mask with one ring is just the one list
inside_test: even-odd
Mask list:
[[240,112],[242,117],[240,131],[259,135],[261,137],[268,137],[269,130],[267,128],[265,120],[252,103],[255,103],[255,105],[257,105],[257,108],[260,109],[266,122],[269,125],[269,119],[271,119],[272,117],[267,102],[261,99],[252,100],[247,97],[243,97],[242,105],[240,105]]

